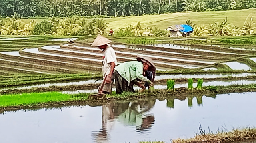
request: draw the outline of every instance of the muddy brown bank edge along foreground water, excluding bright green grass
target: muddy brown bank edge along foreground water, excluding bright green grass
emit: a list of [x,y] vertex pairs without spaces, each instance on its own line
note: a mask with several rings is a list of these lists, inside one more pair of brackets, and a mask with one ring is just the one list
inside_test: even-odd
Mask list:
[[[184,100],[190,96],[215,96],[216,94],[226,94],[226,93],[244,93],[244,92],[256,92],[256,85],[231,85],[228,87],[217,86],[217,87],[207,87],[207,90],[187,90],[184,87],[177,88],[175,91],[168,90],[156,90],[154,93],[124,93],[122,95],[107,95],[106,97],[90,97],[90,94],[79,94],[79,95],[71,95],[72,97],[76,97],[71,101],[59,101],[59,102],[47,102],[47,103],[37,103],[34,105],[17,105],[17,106],[8,106],[8,107],[0,107],[0,113],[5,111],[16,111],[20,109],[34,109],[34,108],[47,108],[47,107],[62,107],[62,106],[72,106],[72,105],[104,105],[110,101],[118,101],[118,100],[132,100],[132,99],[148,99],[148,98],[156,98],[156,99],[164,99],[164,98],[175,98]],[[88,97],[89,96],[89,97]]]

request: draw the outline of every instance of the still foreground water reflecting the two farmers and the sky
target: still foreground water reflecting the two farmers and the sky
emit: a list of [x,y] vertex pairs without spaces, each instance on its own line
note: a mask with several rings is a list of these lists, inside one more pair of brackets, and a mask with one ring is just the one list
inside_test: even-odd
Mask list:
[[190,138],[199,127],[230,131],[256,125],[256,93],[140,100],[0,115],[2,143],[137,143]]

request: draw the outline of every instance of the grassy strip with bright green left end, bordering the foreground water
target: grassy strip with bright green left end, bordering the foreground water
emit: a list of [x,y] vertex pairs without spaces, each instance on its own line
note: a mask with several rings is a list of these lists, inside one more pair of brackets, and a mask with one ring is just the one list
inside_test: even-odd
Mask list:
[[[112,100],[124,100],[124,99],[137,99],[137,98],[150,98],[156,96],[164,96],[164,97],[173,97],[177,99],[186,99],[186,97],[190,97],[190,93],[193,95],[207,95],[207,94],[222,94],[222,93],[234,93],[234,92],[252,92],[256,91],[256,84],[250,85],[229,85],[229,86],[208,86],[205,87],[203,91],[188,91],[184,87],[177,88],[176,92],[171,90],[156,90],[154,93],[150,93],[148,91],[143,93],[130,93],[124,92],[122,94],[116,94],[112,92],[111,95],[106,95],[104,98],[95,99],[88,98],[89,93],[80,93],[75,95],[62,94],[60,92],[44,92],[44,93],[22,93],[22,94],[9,94],[9,95],[0,95],[0,107],[8,107],[8,106],[18,106],[18,105],[36,105],[38,103],[49,103],[49,102],[58,102],[61,101],[106,101],[109,99]],[[1,110],[1,109],[0,109]]]

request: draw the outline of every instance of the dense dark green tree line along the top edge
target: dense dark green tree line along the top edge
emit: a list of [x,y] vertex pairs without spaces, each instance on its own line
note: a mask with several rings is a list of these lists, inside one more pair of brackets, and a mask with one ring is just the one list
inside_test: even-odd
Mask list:
[[256,8],[254,0],[1,0],[0,15],[20,17],[137,16]]

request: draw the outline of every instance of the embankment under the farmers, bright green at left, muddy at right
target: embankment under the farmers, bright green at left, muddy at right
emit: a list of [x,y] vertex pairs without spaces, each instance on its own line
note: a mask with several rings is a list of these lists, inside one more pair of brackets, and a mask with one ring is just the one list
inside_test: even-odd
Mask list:
[[59,92],[22,93],[12,95],[0,95],[0,112],[18,109],[30,109],[36,107],[84,105],[86,103],[96,103],[102,105],[107,101],[124,99],[171,97],[184,100],[186,99],[186,97],[202,94],[212,97],[215,96],[215,94],[253,91],[256,91],[256,84],[206,87],[204,88],[204,90],[187,90],[186,88],[181,87],[175,89],[175,92],[170,90],[156,90],[154,93],[113,93],[112,95],[106,95],[106,97],[103,98],[89,97],[89,93],[80,93],[75,95],[68,95]]

